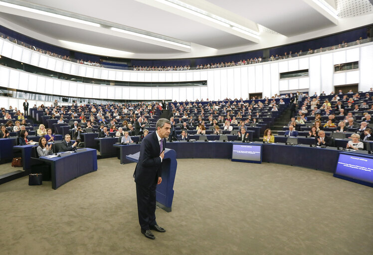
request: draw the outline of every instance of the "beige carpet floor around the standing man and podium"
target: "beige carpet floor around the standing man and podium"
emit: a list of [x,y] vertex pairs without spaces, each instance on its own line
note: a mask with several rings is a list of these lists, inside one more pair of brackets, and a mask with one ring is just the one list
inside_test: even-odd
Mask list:
[[1,255],[370,255],[373,189],[331,173],[227,159],[179,159],[166,233],[140,233],[135,164],[57,190],[0,185]]

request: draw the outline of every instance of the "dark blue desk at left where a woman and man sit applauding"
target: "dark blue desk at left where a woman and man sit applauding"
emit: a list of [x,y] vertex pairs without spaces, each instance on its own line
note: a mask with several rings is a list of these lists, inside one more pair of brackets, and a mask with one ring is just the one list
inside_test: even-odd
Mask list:
[[86,148],[86,151],[69,153],[64,157],[39,157],[40,160],[50,163],[52,175],[52,188],[57,189],[63,184],[84,174],[97,170],[97,151]]

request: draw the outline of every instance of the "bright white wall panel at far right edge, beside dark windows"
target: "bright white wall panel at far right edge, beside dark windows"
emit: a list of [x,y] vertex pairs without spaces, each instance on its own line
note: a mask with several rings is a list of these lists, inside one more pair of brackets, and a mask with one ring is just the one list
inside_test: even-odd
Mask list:
[[360,49],[360,91],[369,91],[373,84],[373,45]]

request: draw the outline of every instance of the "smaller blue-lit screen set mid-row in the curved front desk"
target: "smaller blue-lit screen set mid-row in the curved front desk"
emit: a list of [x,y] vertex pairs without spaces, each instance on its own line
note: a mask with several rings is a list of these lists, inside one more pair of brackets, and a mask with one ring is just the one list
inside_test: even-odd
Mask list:
[[261,163],[262,145],[261,144],[233,144],[232,161]]

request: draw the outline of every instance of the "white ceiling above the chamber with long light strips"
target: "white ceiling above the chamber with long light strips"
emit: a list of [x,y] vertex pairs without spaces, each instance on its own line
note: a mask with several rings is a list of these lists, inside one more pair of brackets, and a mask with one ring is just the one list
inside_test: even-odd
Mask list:
[[[20,4],[31,3],[38,5],[36,7],[49,7],[78,17],[92,18],[93,22],[105,22],[113,27],[141,29],[190,44],[190,50],[128,36],[103,26],[73,24],[3,6],[0,6],[0,25],[57,46],[69,47],[60,40],[86,44],[83,51],[92,54],[98,53],[90,48],[90,45],[116,50],[115,53],[106,50],[104,55],[108,56],[183,58],[266,48],[351,29],[373,21],[372,12],[365,13],[365,17],[353,17],[349,22],[344,22],[343,18],[334,19],[320,9],[314,0],[183,1],[251,30],[259,31],[257,24],[260,24],[277,33],[269,33],[269,29],[262,29],[259,32],[259,39],[255,39],[158,0],[27,0],[20,1]],[[338,1],[347,0],[337,0],[337,3]],[[369,0],[360,1],[369,3]],[[336,6],[333,4],[336,3],[335,0],[328,2]],[[69,48],[82,51],[82,48],[75,48],[73,44]],[[118,50],[123,51],[123,54],[118,55]]]

